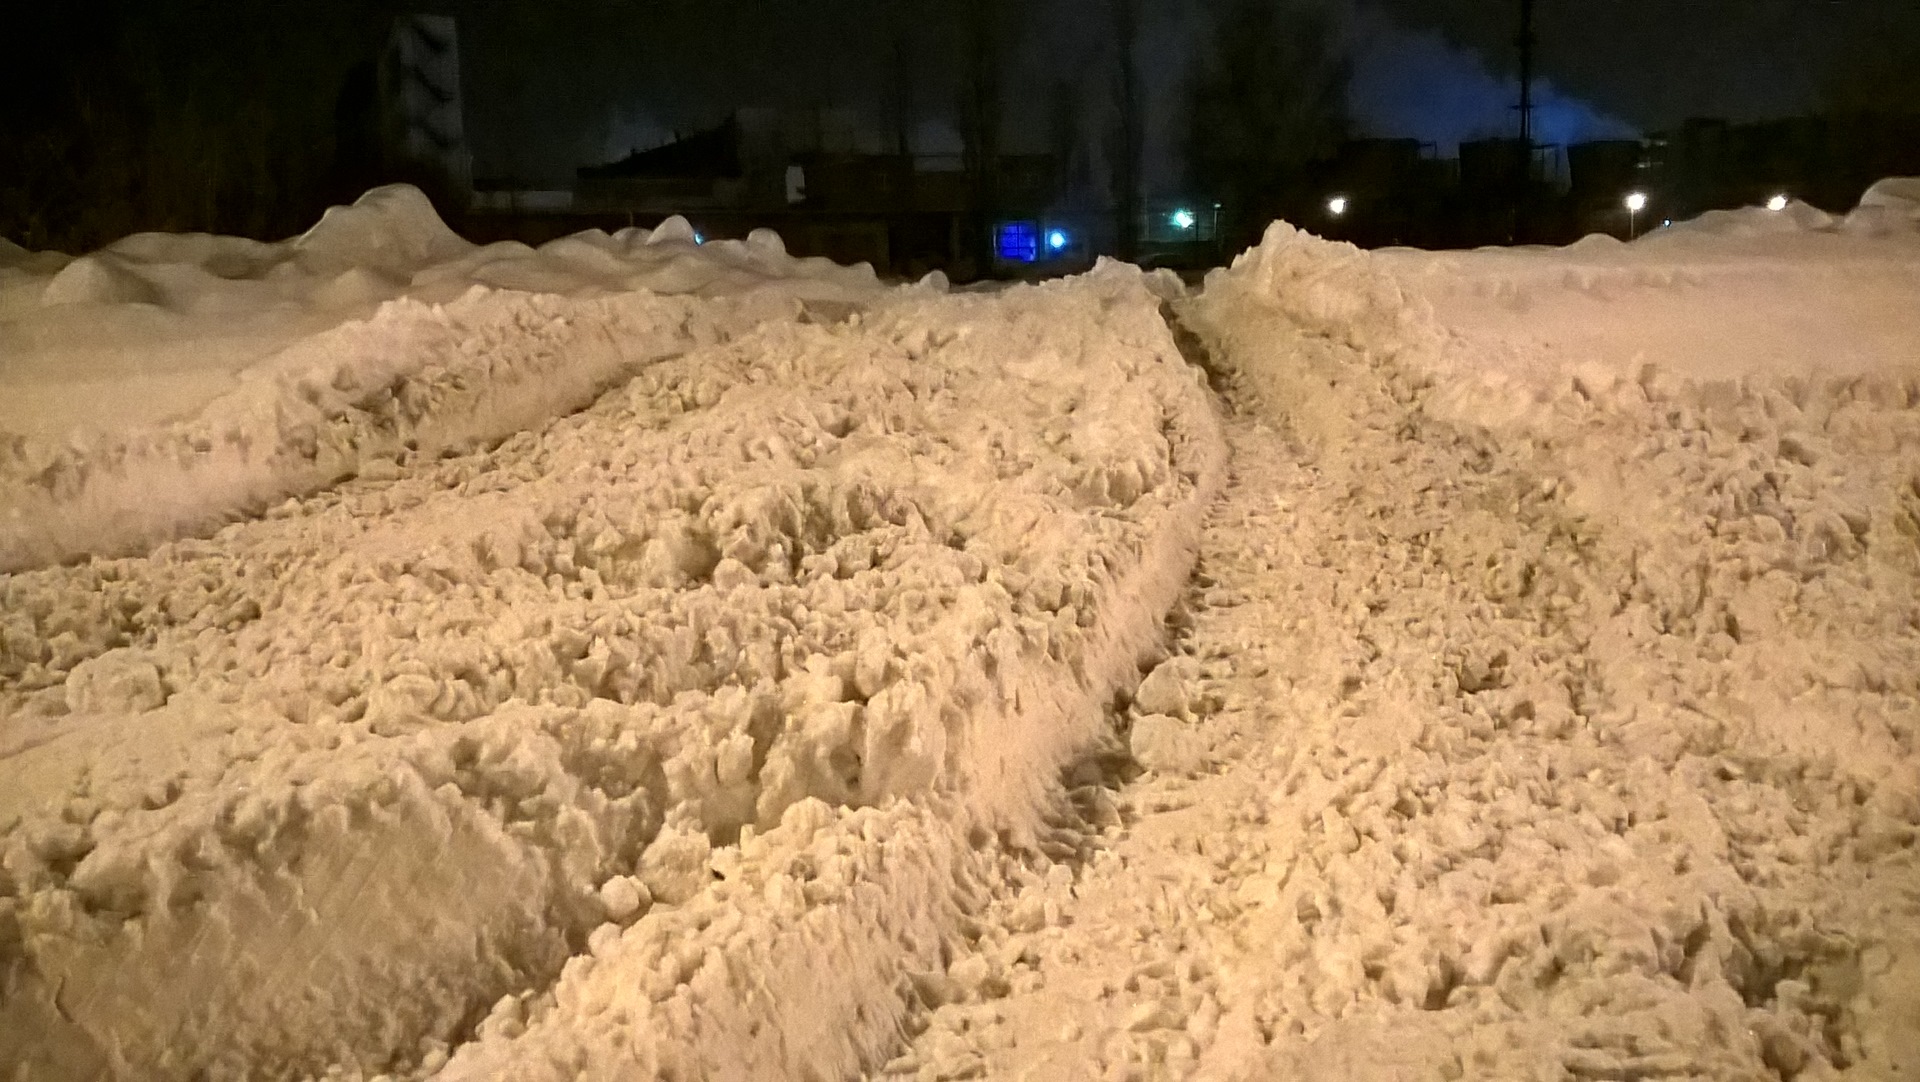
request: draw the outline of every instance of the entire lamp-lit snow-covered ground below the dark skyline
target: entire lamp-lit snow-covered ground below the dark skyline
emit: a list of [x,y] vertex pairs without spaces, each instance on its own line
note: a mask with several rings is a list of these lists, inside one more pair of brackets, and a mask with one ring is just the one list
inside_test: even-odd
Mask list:
[[1916,182],[966,295],[392,188],[0,244],[0,430],[4,1078],[1920,1078]]

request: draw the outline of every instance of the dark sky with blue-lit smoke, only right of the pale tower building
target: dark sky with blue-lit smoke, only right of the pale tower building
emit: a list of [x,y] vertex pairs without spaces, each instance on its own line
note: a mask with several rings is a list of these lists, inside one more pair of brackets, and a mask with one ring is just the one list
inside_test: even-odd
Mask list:
[[[1148,6],[1156,157],[1167,157],[1179,88],[1217,0]],[[1056,84],[1104,107],[1102,0],[1027,0],[1010,31],[1014,140],[1044,138]],[[1356,58],[1356,119],[1369,134],[1438,144],[1513,123],[1517,0],[1334,0]],[[904,25],[929,150],[950,142],[952,4],[908,0],[468,0],[461,15],[482,171],[564,176],[572,157],[647,146],[735,104],[881,113]],[[1916,0],[1538,0],[1548,140],[1630,134],[1690,115],[1809,111],[1849,69],[1920,75]],[[1874,56],[1868,56],[1874,54]],[[1882,56],[1885,54],[1885,56]],[[1901,67],[1905,63],[1905,67]],[[1872,71],[1851,73],[1862,81]],[[1889,77],[1891,75],[1891,77]],[[1908,82],[1920,86],[1920,79]],[[1907,107],[1920,90],[1908,90]],[[876,117],[877,121],[877,117]],[[876,129],[879,125],[876,123]],[[943,138],[945,134],[945,138]],[[876,130],[877,136],[877,130]],[[1164,163],[1158,171],[1165,176]]]

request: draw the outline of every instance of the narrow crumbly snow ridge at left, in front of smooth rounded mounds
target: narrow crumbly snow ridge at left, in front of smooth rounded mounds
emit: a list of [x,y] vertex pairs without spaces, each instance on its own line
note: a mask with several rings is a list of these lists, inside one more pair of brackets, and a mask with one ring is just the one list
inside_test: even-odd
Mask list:
[[250,368],[190,420],[0,447],[0,570],[144,551],[340,478],[503,439],[718,338],[718,315],[651,294],[474,288],[445,307],[394,303]]

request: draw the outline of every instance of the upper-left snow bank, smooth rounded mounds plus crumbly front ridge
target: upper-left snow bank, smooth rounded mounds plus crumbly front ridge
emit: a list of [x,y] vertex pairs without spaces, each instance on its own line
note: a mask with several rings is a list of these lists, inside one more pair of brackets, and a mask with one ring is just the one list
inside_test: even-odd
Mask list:
[[476,247],[403,186],[284,244],[140,234],[73,261],[15,249],[0,269],[0,570],[204,533],[877,292],[872,270],[791,259],[772,234],[697,246],[680,219]]

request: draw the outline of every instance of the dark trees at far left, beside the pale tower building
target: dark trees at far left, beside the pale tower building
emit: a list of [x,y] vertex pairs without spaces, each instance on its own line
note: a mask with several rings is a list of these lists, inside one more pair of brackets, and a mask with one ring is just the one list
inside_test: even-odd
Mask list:
[[372,119],[351,115],[374,106],[388,15],[372,4],[315,6],[298,27],[275,4],[125,0],[10,21],[29,48],[0,65],[0,236],[286,236],[376,175]]

